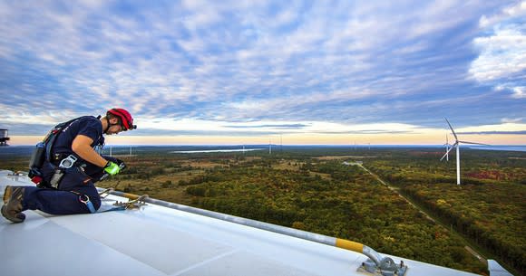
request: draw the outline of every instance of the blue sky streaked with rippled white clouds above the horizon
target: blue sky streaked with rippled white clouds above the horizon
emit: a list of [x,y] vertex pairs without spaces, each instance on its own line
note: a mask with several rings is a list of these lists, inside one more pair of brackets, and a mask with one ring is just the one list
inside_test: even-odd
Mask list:
[[0,0],[0,128],[109,144],[526,144],[526,1]]

